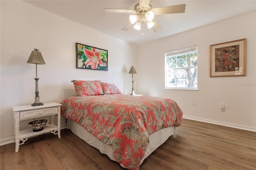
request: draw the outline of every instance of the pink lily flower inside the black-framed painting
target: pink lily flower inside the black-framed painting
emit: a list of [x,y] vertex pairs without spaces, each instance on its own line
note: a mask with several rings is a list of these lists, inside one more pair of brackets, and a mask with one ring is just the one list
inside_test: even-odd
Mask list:
[[100,52],[96,51],[95,48],[92,48],[92,50],[84,49],[84,54],[88,58],[84,62],[84,65],[86,65],[86,67],[88,67],[88,65],[91,65],[92,69],[97,69],[97,66],[99,64],[102,67],[106,66],[106,63],[103,63],[100,59]]

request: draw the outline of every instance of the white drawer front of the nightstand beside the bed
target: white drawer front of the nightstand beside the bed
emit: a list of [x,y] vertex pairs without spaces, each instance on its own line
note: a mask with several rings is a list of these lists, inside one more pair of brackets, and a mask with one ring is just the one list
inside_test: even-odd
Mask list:
[[29,119],[34,117],[41,117],[47,115],[53,115],[54,113],[58,113],[58,107],[46,108],[46,109],[38,109],[34,111],[21,111],[20,119]]

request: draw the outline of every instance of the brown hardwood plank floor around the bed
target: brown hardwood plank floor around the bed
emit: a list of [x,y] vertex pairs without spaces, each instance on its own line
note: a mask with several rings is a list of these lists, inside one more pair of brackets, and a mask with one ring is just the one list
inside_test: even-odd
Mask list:
[[[126,170],[70,130],[0,146],[1,170]],[[140,170],[256,170],[256,132],[183,119]]]

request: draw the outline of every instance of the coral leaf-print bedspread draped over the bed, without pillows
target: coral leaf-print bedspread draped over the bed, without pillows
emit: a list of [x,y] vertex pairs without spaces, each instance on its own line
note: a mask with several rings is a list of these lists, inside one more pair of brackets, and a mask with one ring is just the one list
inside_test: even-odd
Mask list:
[[139,169],[150,134],[182,121],[172,99],[124,94],[68,97],[61,114],[112,146],[116,161],[131,170]]

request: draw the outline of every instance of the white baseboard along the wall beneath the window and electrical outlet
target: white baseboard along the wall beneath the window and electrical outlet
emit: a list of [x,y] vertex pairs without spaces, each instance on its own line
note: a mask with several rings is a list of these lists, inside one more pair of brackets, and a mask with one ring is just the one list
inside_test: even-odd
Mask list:
[[211,123],[211,124],[214,124],[214,125],[221,125],[221,126],[224,126],[224,127],[232,127],[232,128],[238,128],[238,129],[242,129],[242,130],[248,130],[248,131],[256,132],[256,127],[248,127],[248,126],[244,126],[244,125],[237,125],[237,124],[233,124],[233,123],[213,121],[213,120],[210,120],[210,119],[202,119],[202,118],[199,118],[199,117],[192,117],[192,116],[186,116],[186,115],[183,115],[183,118],[194,120],[194,121],[199,121],[199,122]]

